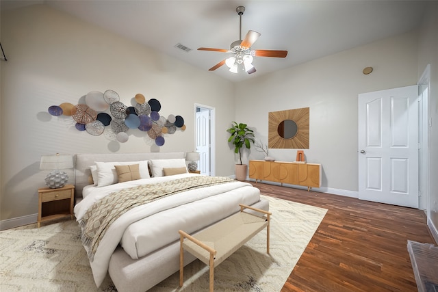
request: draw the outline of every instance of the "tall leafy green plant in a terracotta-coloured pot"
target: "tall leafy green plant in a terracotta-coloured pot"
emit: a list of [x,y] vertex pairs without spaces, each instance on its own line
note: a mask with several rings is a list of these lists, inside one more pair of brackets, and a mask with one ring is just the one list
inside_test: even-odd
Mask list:
[[233,143],[235,154],[239,154],[240,164],[235,165],[235,178],[244,181],[248,172],[248,165],[242,163],[242,148],[244,146],[247,149],[251,148],[250,142],[254,143],[254,131],[248,129],[246,124],[233,122],[233,127],[227,129],[227,132],[230,133],[228,142]]

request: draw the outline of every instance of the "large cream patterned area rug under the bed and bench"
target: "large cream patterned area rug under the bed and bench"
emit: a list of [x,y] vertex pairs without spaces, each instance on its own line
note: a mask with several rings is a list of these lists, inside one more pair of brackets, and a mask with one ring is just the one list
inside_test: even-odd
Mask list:
[[[280,291],[318,228],[326,209],[263,196],[272,211],[270,254],[262,230],[215,269],[215,291]],[[97,288],[73,220],[0,232],[0,291],[117,291],[107,276]],[[201,261],[151,291],[207,291],[209,270]]]

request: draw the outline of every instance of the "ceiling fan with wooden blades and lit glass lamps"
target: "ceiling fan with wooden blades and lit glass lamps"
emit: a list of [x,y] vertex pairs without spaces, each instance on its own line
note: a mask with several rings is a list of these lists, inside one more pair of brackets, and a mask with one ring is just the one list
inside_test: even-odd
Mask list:
[[[218,64],[209,68],[209,71],[214,71],[220,66],[226,64],[229,67],[230,72],[237,73],[240,68],[245,70],[248,74],[254,73],[255,67],[253,63],[253,57],[279,57],[284,58],[287,56],[287,51],[277,50],[253,50],[251,46],[261,36],[257,31],[249,30],[244,40],[242,40],[242,15],[244,14],[244,6],[238,6],[235,11],[240,18],[240,40],[236,40],[231,43],[230,49],[214,49],[214,48],[198,48],[199,51],[216,51],[223,53],[232,53],[233,55],[227,59],[223,59]],[[243,66],[242,66],[243,64]]]

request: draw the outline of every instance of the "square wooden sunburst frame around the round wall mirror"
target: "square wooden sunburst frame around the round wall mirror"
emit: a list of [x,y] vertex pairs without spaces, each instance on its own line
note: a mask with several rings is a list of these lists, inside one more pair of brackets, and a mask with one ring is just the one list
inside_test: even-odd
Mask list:
[[[309,107],[271,111],[268,115],[268,147],[309,149]],[[293,120],[298,127],[294,137],[285,139],[279,135],[279,124],[284,120]]]

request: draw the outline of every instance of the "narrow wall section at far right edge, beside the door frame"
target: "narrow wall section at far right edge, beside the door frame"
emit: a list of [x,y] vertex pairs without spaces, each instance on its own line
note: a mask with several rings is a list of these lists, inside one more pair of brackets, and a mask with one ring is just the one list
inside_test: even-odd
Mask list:
[[438,3],[430,1],[420,29],[418,53],[418,78],[430,64],[429,117],[429,208],[428,225],[438,241]]

